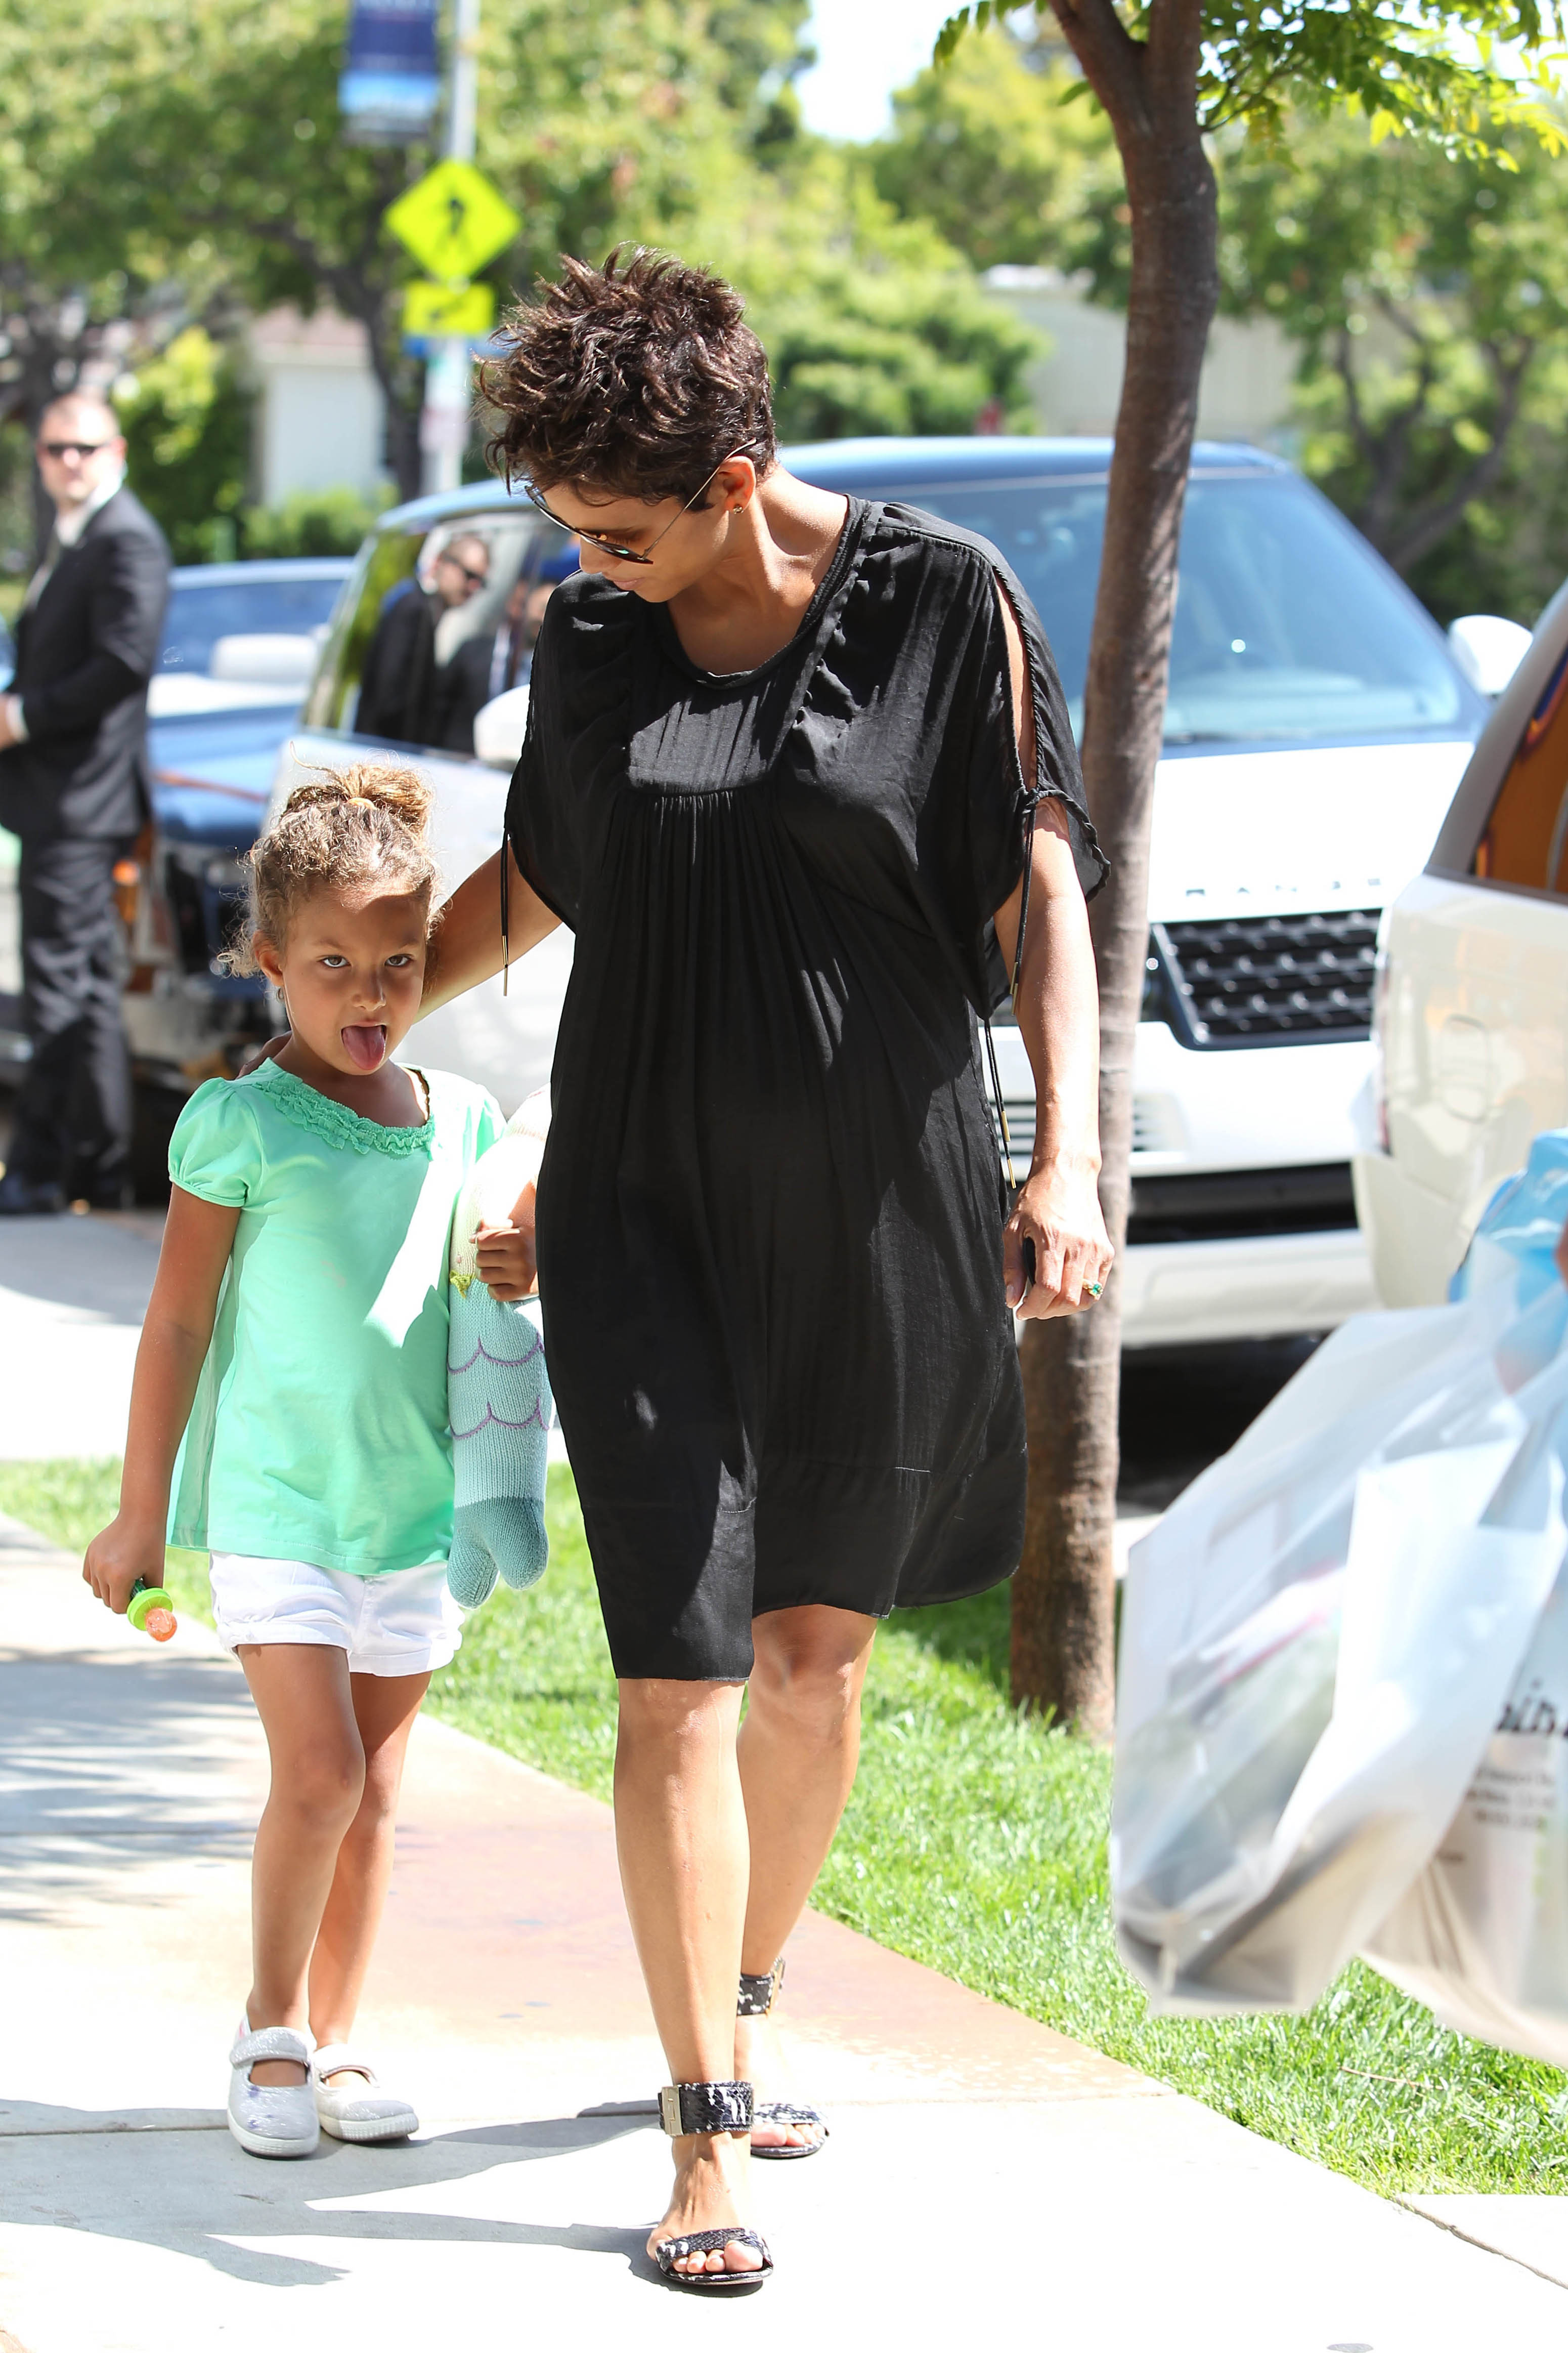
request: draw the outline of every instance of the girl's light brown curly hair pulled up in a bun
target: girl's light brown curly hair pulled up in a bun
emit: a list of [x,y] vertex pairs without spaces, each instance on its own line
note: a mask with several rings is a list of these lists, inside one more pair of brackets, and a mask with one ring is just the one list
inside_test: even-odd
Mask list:
[[282,955],[289,925],[317,889],[374,885],[430,896],[435,859],[428,828],[430,786],[411,767],[357,760],[296,784],[247,856],[247,936],[223,953],[223,969],[261,972],[256,934]]

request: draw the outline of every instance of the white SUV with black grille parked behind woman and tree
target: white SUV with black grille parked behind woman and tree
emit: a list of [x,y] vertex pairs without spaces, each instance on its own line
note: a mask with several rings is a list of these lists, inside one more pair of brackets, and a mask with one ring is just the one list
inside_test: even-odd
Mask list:
[[[785,461],[825,489],[905,501],[994,541],[1041,612],[1079,722],[1110,442],[851,440]],[[381,520],[296,762],[367,741],[353,734],[357,680],[388,598],[475,532],[489,576],[440,621],[437,659],[470,645],[468,671],[484,671],[508,595],[555,553],[550,527],[501,485]],[[515,758],[522,701],[463,722],[491,767],[433,718],[421,760],[451,878],[498,845],[496,767]],[[1427,856],[1486,711],[1415,598],[1300,475],[1260,449],[1194,449],[1133,1073],[1128,1346],[1324,1332],[1371,1304],[1349,1153],[1378,918]],[[294,774],[284,762],[277,788]],[[421,1024],[416,1052],[510,1108],[548,1075],[569,960],[555,934],[515,967],[505,1000],[496,981]],[[1016,1028],[999,1026],[997,1054],[1027,1155],[1034,1092]]]

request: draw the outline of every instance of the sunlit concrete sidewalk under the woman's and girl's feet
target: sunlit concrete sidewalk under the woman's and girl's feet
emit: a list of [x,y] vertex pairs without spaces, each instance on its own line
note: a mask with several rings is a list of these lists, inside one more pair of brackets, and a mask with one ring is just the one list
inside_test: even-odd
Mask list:
[[[414,1739],[364,2012],[425,2129],[247,2158],[221,2115],[266,1781],[244,1685],[202,1626],[155,1649],[14,1525],[0,1628],[7,2353],[545,2332],[597,2353],[712,2329],[790,2353],[976,2329],[1095,2353],[1481,2353],[1568,2327],[1563,2287],[1521,2261],[820,1918],[790,1995],[832,2146],[757,2167],[778,2275],[715,2320],[642,2254],[663,2068],[609,1812],[437,1722]],[[1568,2278],[1563,2252],[1547,2233],[1523,2261]]]

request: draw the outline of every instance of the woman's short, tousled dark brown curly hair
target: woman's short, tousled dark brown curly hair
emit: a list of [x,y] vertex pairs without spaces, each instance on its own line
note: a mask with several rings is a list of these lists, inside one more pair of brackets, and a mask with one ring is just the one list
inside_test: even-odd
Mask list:
[[602,271],[562,254],[503,325],[482,372],[501,414],[489,461],[541,489],[693,499],[726,456],[773,464],[773,402],[741,296],[670,254],[616,247]]

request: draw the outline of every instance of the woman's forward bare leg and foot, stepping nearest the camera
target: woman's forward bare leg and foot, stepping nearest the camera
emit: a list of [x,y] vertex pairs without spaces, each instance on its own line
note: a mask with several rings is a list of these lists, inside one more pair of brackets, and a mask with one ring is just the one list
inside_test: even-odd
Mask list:
[[[736,1767],[738,1682],[625,1680],[616,1744],[616,1847],[637,1958],[672,2082],[729,2082],[745,1920],[745,1805]],[[672,2144],[675,2188],[649,2238],[741,2224],[745,2134]],[[755,2247],[693,2254],[682,2271],[757,2271]]]

